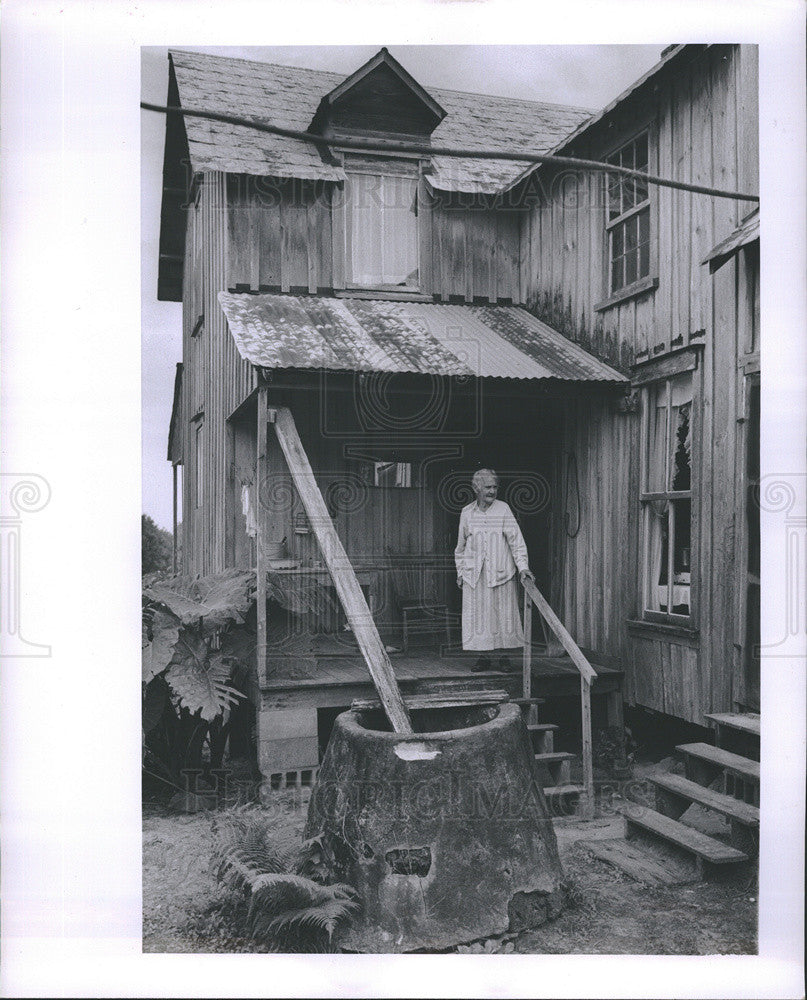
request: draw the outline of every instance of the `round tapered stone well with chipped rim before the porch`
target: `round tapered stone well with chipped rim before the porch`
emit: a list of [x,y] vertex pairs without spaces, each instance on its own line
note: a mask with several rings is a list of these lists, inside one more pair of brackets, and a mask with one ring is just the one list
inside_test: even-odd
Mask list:
[[308,811],[332,873],[362,913],[338,944],[442,949],[534,927],[562,905],[563,872],[516,705],[379,711],[334,725]]

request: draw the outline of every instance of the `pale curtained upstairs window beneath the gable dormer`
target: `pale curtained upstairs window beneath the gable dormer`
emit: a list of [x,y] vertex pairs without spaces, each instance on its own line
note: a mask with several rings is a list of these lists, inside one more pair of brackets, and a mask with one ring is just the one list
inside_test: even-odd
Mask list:
[[416,289],[417,177],[348,173],[346,208],[348,286]]

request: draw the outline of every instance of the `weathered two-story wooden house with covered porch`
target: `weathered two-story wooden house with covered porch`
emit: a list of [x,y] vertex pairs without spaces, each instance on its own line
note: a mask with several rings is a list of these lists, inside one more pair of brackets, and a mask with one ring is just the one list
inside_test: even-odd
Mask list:
[[[169,106],[317,140],[167,115],[159,297],[184,307],[169,443],[181,568],[258,571],[264,773],[315,768],[333,712],[372,691],[277,408],[403,650],[404,690],[471,676],[452,553],[471,474],[489,466],[597,671],[595,723],[621,725],[623,697],[700,725],[757,705],[753,201],[446,153],[556,153],[753,194],[755,60],[672,47],[592,116],[426,88],[385,49],[347,78],[171,53]],[[300,614],[277,613],[273,587]],[[535,690],[575,694],[551,652],[533,658]]]

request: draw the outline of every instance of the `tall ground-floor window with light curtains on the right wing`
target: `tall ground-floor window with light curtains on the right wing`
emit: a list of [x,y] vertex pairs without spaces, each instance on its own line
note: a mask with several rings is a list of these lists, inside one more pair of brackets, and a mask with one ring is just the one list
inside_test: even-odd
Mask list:
[[646,618],[692,614],[692,372],[644,392],[643,608]]

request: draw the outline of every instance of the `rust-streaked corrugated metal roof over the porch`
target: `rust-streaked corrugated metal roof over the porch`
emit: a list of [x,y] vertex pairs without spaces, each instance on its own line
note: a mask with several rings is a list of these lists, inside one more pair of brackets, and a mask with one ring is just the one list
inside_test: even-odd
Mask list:
[[261,368],[623,383],[518,306],[219,292],[241,356]]

